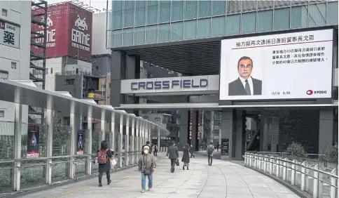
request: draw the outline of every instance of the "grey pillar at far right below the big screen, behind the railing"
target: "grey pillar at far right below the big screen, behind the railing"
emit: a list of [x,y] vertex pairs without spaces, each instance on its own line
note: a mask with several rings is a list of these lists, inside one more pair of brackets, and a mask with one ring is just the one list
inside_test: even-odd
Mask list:
[[319,110],[319,154],[324,152],[328,146],[333,145],[334,128],[333,109]]

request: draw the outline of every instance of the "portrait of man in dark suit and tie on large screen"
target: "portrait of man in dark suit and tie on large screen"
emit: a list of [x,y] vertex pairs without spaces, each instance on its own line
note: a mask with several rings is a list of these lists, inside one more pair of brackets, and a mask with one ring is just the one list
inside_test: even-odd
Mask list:
[[243,56],[237,62],[239,77],[228,84],[228,95],[261,95],[261,80],[251,77],[253,60]]

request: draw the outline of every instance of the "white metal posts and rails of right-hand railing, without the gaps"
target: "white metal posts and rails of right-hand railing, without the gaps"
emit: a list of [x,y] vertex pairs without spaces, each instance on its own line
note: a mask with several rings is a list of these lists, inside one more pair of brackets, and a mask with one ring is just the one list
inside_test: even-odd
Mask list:
[[[315,165],[314,167],[311,167],[307,165],[307,161],[303,161],[303,163],[300,163],[296,161],[296,159],[293,160],[286,160],[282,159],[281,157],[272,157],[270,155],[264,155],[259,154],[258,152],[246,152],[244,154],[244,164],[245,166],[249,166],[253,169],[258,169],[259,171],[264,171],[267,173],[267,164],[270,165],[269,167],[269,173],[271,175],[275,175],[278,178],[280,177],[280,167],[282,167],[283,176],[282,179],[286,180],[287,177],[287,170],[291,170],[291,185],[295,185],[296,183],[296,172],[301,173],[301,184],[300,184],[300,190],[305,191],[305,183],[306,183],[306,176],[308,178],[314,179],[314,185],[313,185],[313,197],[318,197],[318,194],[322,194],[322,187],[320,188],[319,192],[319,182],[321,182],[321,185],[325,183],[326,185],[330,186],[331,192],[330,197],[335,198],[338,197],[337,191],[338,191],[338,176],[333,174],[333,172],[338,174],[337,169],[333,169],[331,173],[328,173],[326,171],[319,170],[319,165]],[[264,162],[262,168],[262,162]],[[254,164],[253,164],[254,163]],[[287,164],[291,164],[291,166],[287,166]],[[275,173],[273,173],[273,166],[277,166],[277,169]],[[300,166],[301,171],[297,169],[297,167]],[[307,173],[307,170],[313,171],[314,176],[311,176],[309,173]],[[319,173],[323,174],[324,176],[328,176],[331,178],[331,183],[328,183],[327,181],[323,180],[322,178],[319,178]]]

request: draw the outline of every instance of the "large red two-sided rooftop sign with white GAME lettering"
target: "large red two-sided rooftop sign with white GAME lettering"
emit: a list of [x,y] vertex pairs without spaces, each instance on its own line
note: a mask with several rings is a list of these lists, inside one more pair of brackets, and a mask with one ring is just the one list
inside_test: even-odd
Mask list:
[[[43,13],[43,10],[32,11],[32,15],[37,13]],[[67,55],[79,60],[90,61],[92,55],[92,12],[67,2],[48,6],[47,15],[46,58]],[[45,20],[43,16],[35,19]],[[43,34],[43,26],[32,25],[32,31]],[[36,38],[35,42],[43,44],[43,39]],[[32,46],[31,50],[36,55],[43,55],[42,48]]]

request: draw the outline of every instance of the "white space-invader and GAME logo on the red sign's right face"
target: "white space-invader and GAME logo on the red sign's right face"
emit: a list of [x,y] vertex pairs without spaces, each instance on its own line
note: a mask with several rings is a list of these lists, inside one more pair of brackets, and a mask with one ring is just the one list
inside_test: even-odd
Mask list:
[[86,34],[84,31],[88,31],[88,25],[86,23],[86,18],[81,18],[78,15],[78,18],[74,22],[74,27],[71,29],[71,41],[80,44],[83,46],[76,46],[76,44],[72,44],[72,46],[76,46],[77,48],[84,49],[86,51],[90,51],[90,34]]

